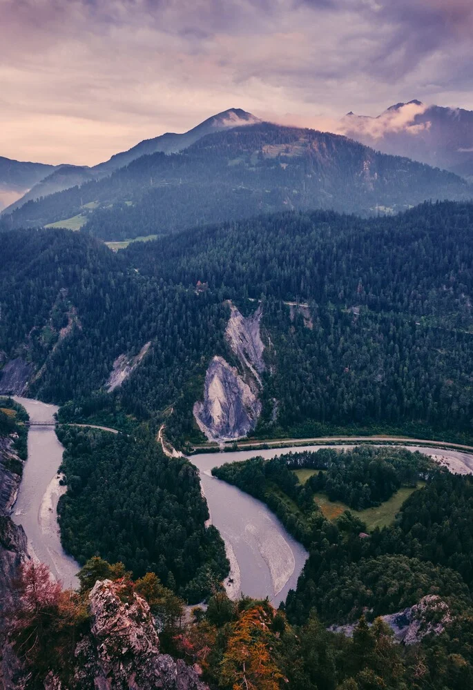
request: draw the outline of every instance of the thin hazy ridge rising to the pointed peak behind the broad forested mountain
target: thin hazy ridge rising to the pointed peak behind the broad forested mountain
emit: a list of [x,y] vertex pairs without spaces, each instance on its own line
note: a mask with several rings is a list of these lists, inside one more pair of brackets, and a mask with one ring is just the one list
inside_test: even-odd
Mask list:
[[[221,132],[232,127],[238,127],[246,124],[255,124],[260,122],[258,117],[251,115],[251,112],[242,110],[241,108],[229,108],[229,110],[224,110],[219,112],[218,115],[213,115],[209,119],[204,120],[199,125],[189,130],[189,132],[184,132],[184,134],[174,134],[173,132],[166,132],[166,134],[160,137],[155,137],[154,139],[145,139],[140,141],[139,144],[133,146],[133,148],[128,151],[123,151],[122,153],[117,153],[113,155],[108,161],[104,163],[99,163],[93,168],[88,168],[88,166],[57,166],[56,168],[50,167],[50,170],[46,171],[52,172],[52,175],[48,179],[43,179],[40,177],[41,184],[30,189],[32,185],[23,188],[26,190],[26,194],[18,194],[15,198],[11,200],[6,197],[8,203],[4,206],[11,206],[8,208],[8,213],[11,213],[15,208],[19,208],[26,204],[26,201],[39,199],[39,197],[46,197],[50,194],[56,192],[61,192],[66,189],[70,189],[76,185],[82,185],[90,181],[90,179],[99,179],[110,175],[117,168],[122,168],[127,166],[131,161],[144,156],[150,155],[156,152],[164,153],[175,153],[182,151],[195,141],[205,137],[208,134],[213,134],[215,132]],[[0,159],[1,160],[1,159]],[[1,178],[0,178],[1,179]],[[39,181],[35,180],[35,182]],[[35,184],[35,183],[33,183]],[[0,187],[1,190],[1,187]],[[1,201],[1,197],[0,197]],[[15,202],[15,203],[14,203]],[[0,210],[1,210],[0,206]]]

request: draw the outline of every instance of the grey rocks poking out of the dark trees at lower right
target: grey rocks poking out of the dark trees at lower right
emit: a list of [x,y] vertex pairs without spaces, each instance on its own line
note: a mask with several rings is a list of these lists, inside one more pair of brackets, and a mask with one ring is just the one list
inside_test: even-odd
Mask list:
[[[434,633],[440,635],[445,626],[452,622],[452,615],[448,605],[436,594],[429,594],[412,607],[381,616],[385,623],[394,632],[397,642],[403,644],[416,644],[421,642],[425,635]],[[332,625],[329,630],[334,633],[343,633],[351,638],[356,623],[349,625]]]

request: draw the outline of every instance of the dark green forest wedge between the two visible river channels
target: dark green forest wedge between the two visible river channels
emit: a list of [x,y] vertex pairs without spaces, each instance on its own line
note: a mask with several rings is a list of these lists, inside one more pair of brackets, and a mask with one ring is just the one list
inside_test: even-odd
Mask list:
[[136,577],[159,575],[191,602],[226,576],[224,544],[209,517],[195,467],[170,460],[146,427],[133,437],[59,427],[68,493],[59,504],[61,541],[79,563],[99,553]]

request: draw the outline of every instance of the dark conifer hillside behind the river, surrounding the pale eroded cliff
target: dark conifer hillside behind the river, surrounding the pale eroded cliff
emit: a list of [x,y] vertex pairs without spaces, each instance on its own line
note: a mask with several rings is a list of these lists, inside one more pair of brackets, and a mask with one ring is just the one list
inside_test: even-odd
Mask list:
[[[233,362],[225,300],[250,313],[251,297],[262,299],[268,365],[256,435],[471,440],[472,226],[473,206],[446,203],[370,220],[271,215],[117,254],[81,233],[4,233],[3,361],[32,362],[28,391],[74,400],[69,419],[122,409],[195,442],[192,407],[209,361]],[[117,357],[148,342],[106,393]]]

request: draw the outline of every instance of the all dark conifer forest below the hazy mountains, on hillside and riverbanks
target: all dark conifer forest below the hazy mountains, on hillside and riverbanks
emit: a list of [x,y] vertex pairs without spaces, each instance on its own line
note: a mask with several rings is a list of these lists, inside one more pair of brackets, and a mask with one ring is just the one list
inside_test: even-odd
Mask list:
[[[208,598],[210,613],[185,635],[164,633],[163,643],[195,660],[210,641],[204,673],[216,686],[231,687],[240,635],[267,616],[271,634],[254,642],[273,664],[271,678],[280,673],[291,687],[470,687],[469,477],[418,453],[370,446],[222,466],[218,477],[266,502],[309,551],[296,591],[267,613],[267,604],[224,599],[218,583],[229,563],[218,532],[204,526],[197,472],[166,457],[156,435],[165,424],[175,446],[204,440],[193,403],[211,357],[234,362],[225,338],[231,300],[243,315],[262,308],[266,368],[253,437],[405,433],[471,442],[472,224],[473,206],[445,202],[371,219],[262,215],[117,253],[84,232],[0,235],[2,362],[23,362],[28,395],[61,405],[64,546],[86,569],[97,554],[122,562],[100,568],[142,591],[153,573],[166,606],[175,607],[175,594]],[[108,392],[117,357],[133,359],[147,344],[133,373]],[[409,497],[389,524],[364,521],[403,491]],[[321,497],[343,509],[327,517]],[[126,586],[129,595],[135,585]],[[431,595],[450,612],[445,631],[421,647],[394,644],[376,617]],[[360,617],[352,639],[326,630]]]

